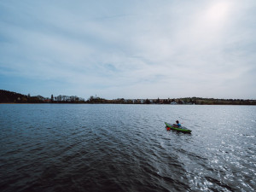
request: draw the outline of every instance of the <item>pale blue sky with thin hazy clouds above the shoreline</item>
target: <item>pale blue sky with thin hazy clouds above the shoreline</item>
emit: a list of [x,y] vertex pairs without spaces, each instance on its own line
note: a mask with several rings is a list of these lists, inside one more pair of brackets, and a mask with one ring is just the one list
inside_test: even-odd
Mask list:
[[0,0],[0,90],[256,99],[255,0]]

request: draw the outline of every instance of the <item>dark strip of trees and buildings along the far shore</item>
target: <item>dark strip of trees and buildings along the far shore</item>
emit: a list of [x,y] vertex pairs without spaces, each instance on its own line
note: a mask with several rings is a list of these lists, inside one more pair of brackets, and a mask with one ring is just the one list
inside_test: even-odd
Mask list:
[[201,97],[183,97],[173,99],[124,99],[107,100],[101,97],[90,96],[84,100],[79,96],[30,96],[22,95],[9,90],[0,90],[0,103],[108,103],[108,104],[186,104],[186,105],[256,105],[256,100],[242,99],[214,99]]

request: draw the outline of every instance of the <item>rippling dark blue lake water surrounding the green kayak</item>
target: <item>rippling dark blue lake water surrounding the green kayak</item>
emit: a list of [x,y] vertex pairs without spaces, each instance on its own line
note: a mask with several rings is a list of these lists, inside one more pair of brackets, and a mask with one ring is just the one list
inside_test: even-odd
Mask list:
[[0,191],[256,189],[253,106],[0,105],[0,131]]

